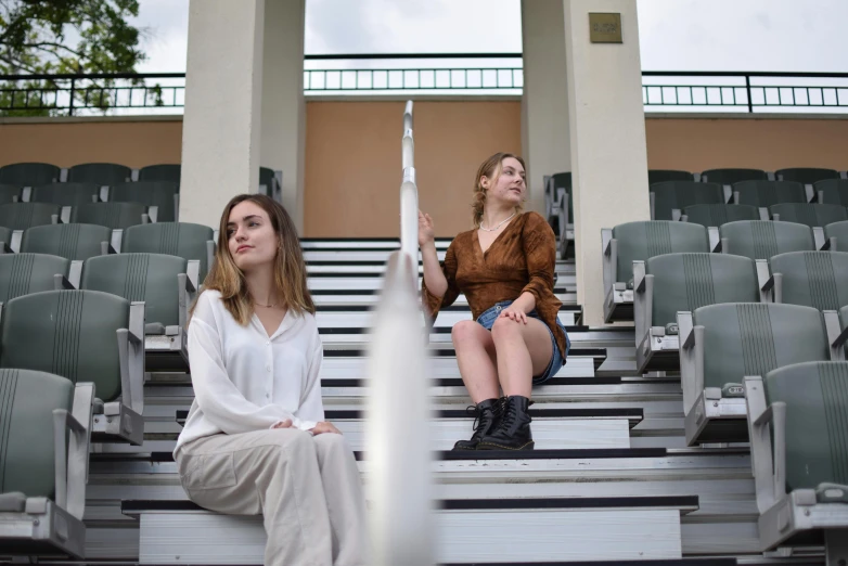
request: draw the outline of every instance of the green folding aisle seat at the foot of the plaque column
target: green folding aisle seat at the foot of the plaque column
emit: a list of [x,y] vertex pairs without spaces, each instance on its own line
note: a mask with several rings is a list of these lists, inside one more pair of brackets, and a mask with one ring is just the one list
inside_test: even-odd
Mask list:
[[676,252],[709,252],[707,229],[667,220],[627,222],[601,230],[604,320],[633,320],[633,261]]

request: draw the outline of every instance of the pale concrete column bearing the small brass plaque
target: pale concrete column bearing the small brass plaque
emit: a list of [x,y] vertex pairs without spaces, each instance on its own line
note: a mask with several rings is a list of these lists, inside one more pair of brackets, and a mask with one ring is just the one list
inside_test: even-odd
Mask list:
[[[577,299],[603,323],[601,229],[650,219],[637,0],[564,0]],[[589,13],[621,14],[624,43],[591,43]]]

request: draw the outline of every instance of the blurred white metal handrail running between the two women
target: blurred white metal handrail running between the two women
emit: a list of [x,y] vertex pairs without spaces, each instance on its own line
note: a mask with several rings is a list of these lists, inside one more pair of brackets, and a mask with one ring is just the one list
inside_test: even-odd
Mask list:
[[373,321],[368,447],[371,539],[377,566],[431,566],[434,543],[428,362],[417,295],[417,189],[412,102],[403,113],[400,249],[386,269]]

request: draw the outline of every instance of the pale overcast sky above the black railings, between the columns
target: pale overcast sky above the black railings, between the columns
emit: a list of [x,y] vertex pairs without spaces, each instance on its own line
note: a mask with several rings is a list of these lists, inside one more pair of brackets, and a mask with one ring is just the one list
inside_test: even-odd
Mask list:
[[[139,70],[184,72],[189,0],[140,4],[149,61]],[[848,0],[638,5],[644,70],[848,73]],[[307,0],[307,54],[521,50],[519,0]]]

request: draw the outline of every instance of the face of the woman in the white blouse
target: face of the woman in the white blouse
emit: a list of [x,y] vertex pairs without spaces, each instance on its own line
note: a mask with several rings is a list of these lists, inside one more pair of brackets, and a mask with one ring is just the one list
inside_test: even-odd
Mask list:
[[280,247],[268,213],[252,201],[243,201],[230,210],[227,243],[233,261],[244,272],[272,265]]

